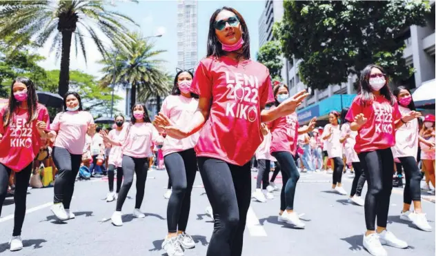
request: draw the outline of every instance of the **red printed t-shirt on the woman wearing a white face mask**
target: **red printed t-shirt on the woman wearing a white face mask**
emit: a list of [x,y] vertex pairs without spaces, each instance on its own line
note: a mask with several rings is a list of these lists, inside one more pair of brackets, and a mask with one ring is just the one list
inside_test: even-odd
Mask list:
[[364,106],[361,95],[357,95],[345,118],[353,122],[355,116],[360,113],[363,113],[368,121],[358,130],[355,144],[357,153],[386,149],[395,145],[395,121],[402,117],[396,101],[394,106],[391,106],[383,96],[377,96],[374,101]]

